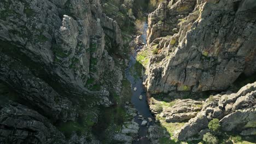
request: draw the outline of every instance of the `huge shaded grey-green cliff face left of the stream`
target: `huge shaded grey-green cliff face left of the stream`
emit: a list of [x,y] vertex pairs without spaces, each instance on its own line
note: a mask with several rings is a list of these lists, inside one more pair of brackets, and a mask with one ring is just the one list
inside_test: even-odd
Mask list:
[[[16,102],[27,106],[11,101],[1,106],[1,135],[21,130],[5,142],[54,143],[59,138],[49,135],[56,128],[47,118],[74,121],[83,113],[80,106],[109,106],[109,91],[120,93],[121,68],[105,43],[110,41],[115,55],[121,55],[123,41],[117,22],[102,13],[100,1],[1,1],[0,15],[0,81],[19,93]],[[17,115],[17,109],[24,114]],[[5,121],[13,115],[24,125]],[[30,121],[36,126],[26,126]],[[36,142],[34,134],[43,137]]]

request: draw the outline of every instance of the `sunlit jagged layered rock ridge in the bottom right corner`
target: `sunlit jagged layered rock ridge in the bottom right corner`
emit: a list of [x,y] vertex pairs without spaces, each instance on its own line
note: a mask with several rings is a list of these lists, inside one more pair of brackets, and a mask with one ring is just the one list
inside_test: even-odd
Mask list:
[[195,118],[178,132],[177,139],[191,141],[202,139],[209,130],[208,123],[218,118],[222,131],[255,135],[256,82],[248,84],[237,93],[217,94],[206,100]]

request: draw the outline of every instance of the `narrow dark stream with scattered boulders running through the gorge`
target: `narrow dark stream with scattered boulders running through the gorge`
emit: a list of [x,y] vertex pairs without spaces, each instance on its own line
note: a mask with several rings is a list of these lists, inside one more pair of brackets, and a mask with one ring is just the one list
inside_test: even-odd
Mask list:
[[[147,38],[147,28],[148,28],[148,24],[145,22],[144,27],[143,27],[143,35],[142,35],[143,43],[145,43],[145,44],[146,44],[146,38]],[[139,46],[138,49],[142,49],[142,46]],[[137,52],[135,50],[130,57],[129,66],[125,70],[126,78],[127,78],[127,80],[129,80],[131,82],[131,88],[132,88],[131,103],[133,104],[135,109],[137,109],[137,111],[138,111],[138,114],[135,117],[135,122],[137,122],[140,125],[139,126],[139,128],[140,128],[139,129],[139,141],[134,141],[133,143],[150,143],[146,136],[148,133],[148,126],[152,125],[154,123],[154,117],[149,110],[149,106],[147,103],[147,97],[146,97],[146,91],[143,88],[141,77],[137,78],[130,73],[130,69],[136,63],[136,56],[137,56]],[[137,90],[133,91],[133,88],[135,88],[135,87],[137,88]],[[139,95],[142,95],[142,97],[143,97],[142,100],[139,99]],[[143,120],[147,121],[147,126],[141,125],[143,120],[138,119],[139,115],[142,115],[144,118]],[[148,118],[151,118],[153,121],[149,122]]]

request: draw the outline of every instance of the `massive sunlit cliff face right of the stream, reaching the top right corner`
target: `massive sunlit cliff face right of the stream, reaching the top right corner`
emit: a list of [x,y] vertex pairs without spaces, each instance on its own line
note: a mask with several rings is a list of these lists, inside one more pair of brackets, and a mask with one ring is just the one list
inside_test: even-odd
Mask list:
[[149,15],[147,42],[158,54],[147,68],[148,91],[223,91],[255,73],[255,9],[251,0],[161,3]]

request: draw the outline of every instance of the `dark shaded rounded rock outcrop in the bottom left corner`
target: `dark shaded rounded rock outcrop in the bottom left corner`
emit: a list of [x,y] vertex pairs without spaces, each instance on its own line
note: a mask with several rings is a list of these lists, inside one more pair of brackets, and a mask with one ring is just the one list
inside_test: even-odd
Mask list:
[[26,106],[2,105],[0,121],[0,143],[66,143],[48,119]]

